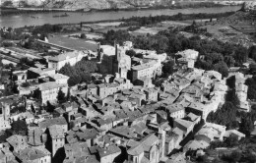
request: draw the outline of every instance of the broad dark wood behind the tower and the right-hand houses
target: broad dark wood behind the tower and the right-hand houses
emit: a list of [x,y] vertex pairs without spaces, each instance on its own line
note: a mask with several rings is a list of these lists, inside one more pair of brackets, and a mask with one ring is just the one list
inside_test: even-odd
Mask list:
[[158,53],[167,53],[174,56],[178,51],[195,49],[199,52],[199,60],[195,67],[204,70],[216,70],[224,77],[228,75],[228,68],[241,66],[247,60],[248,50],[240,45],[221,42],[216,39],[201,39],[200,36],[190,38],[180,35],[175,30],[163,30],[156,35],[131,35],[127,30],[109,30],[100,40],[101,44],[122,44],[130,40],[135,48],[156,50]]

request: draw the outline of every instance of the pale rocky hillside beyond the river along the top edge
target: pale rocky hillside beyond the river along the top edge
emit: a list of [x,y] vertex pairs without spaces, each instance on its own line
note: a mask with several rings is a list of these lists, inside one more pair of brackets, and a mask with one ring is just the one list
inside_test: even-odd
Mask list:
[[2,0],[1,5],[23,7],[34,6],[58,9],[123,9],[171,4],[169,0]]

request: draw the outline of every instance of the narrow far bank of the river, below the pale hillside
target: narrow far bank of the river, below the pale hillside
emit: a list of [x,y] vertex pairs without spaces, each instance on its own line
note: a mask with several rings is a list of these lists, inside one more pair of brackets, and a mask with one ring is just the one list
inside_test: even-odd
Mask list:
[[[241,5],[230,5],[241,6]],[[94,12],[118,12],[118,11],[147,11],[147,10],[163,10],[163,9],[198,9],[198,8],[215,8],[226,7],[226,5],[216,4],[212,2],[189,3],[189,4],[176,4],[170,6],[153,6],[153,7],[134,7],[134,8],[115,8],[115,9],[51,9],[51,8],[8,8],[0,7],[0,16],[11,16],[20,14],[40,14],[40,13],[59,13],[59,12],[72,12],[72,13],[94,13]]]

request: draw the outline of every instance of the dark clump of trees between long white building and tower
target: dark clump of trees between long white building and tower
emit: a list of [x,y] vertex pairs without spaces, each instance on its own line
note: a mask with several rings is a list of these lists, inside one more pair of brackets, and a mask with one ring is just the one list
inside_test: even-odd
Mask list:
[[92,81],[91,73],[96,71],[96,62],[88,61],[86,58],[83,58],[73,67],[70,66],[70,64],[66,64],[60,69],[59,73],[70,77],[68,84],[69,86],[74,86],[81,82]]

